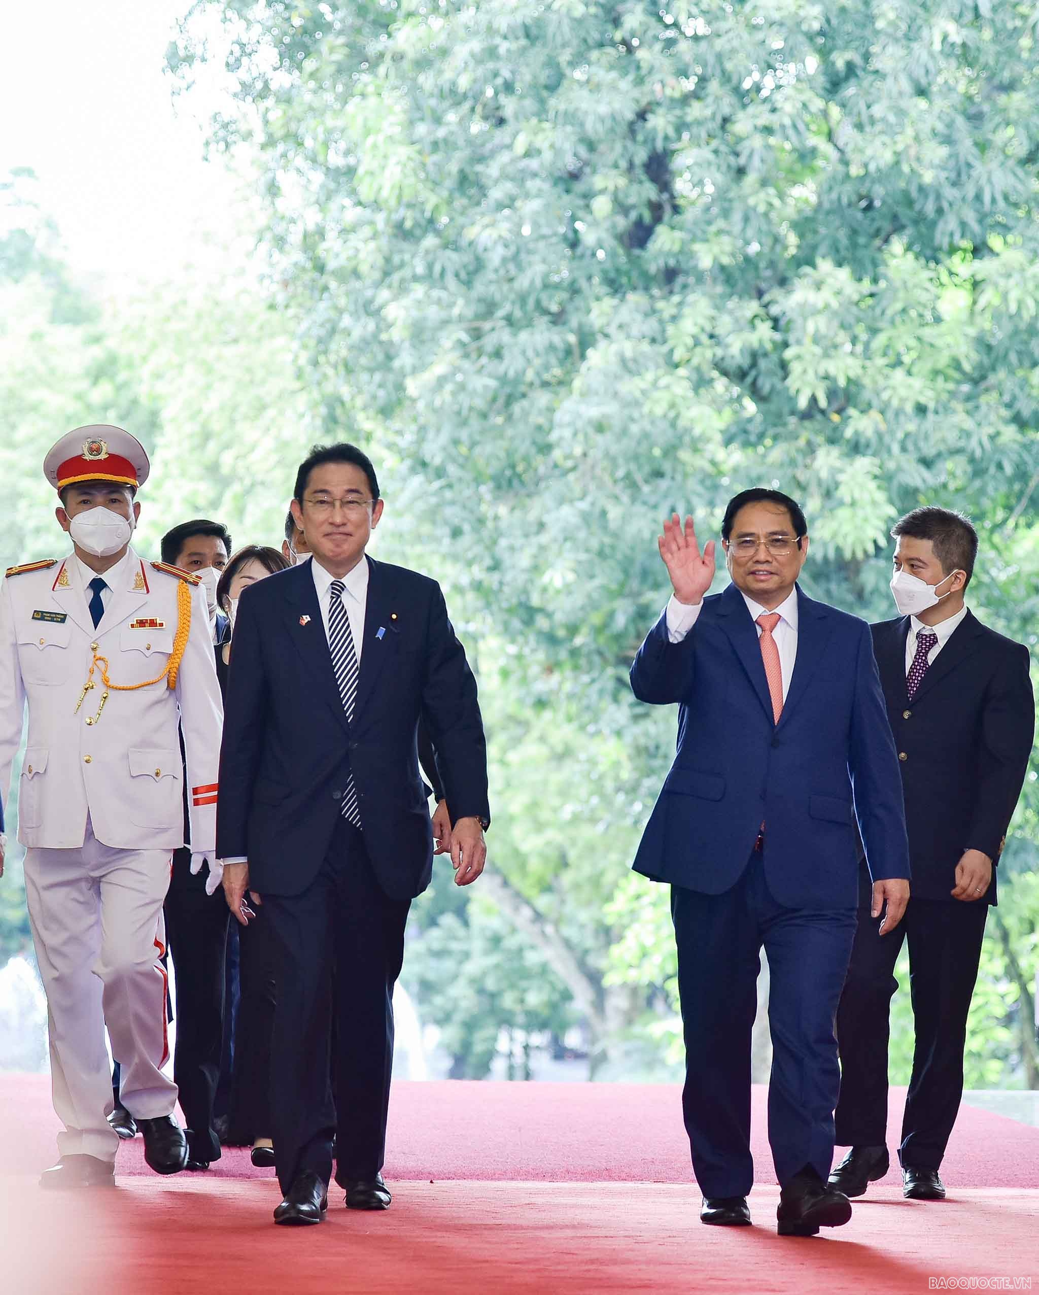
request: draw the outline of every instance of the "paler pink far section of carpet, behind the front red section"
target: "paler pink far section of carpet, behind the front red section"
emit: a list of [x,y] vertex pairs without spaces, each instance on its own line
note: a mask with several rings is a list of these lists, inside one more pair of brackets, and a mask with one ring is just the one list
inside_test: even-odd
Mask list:
[[[756,1178],[775,1184],[766,1092],[756,1087],[753,1096]],[[891,1090],[891,1149],[904,1097],[904,1089]],[[18,1118],[13,1167],[28,1173],[50,1164],[58,1123],[49,1080],[0,1075],[0,1110]],[[397,1181],[692,1181],[681,1093],[670,1084],[396,1083],[387,1146],[386,1176]],[[151,1177],[140,1138],[123,1143],[118,1171]],[[245,1149],[224,1147],[211,1175],[269,1178],[272,1171],[254,1169]],[[970,1188],[1039,1189],[1039,1128],[964,1106],[942,1177]],[[884,1181],[899,1184],[897,1169]]]

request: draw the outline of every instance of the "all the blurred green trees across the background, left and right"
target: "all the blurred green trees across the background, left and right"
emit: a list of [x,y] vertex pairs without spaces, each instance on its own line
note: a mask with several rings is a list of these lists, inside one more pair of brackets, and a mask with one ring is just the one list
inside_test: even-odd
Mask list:
[[[114,293],[28,171],[0,188],[8,561],[58,553],[47,447],[153,455],[141,546],[279,540],[316,440],[375,458],[377,556],[441,580],[477,670],[493,870],[413,913],[404,983],[450,1074],[674,1077],[666,895],[629,873],[674,714],[626,672],[660,519],[752,484],[809,517],[809,593],[868,619],[894,518],[978,526],[976,613],[1035,655],[1034,6],[986,0],[199,0],[167,53],[220,97],[252,251]],[[719,587],[722,580],[719,579]],[[1039,1088],[1039,763],[1000,862],[967,1084]],[[935,813],[941,813],[941,805]],[[0,958],[26,943],[17,866]],[[891,1079],[911,1061],[907,967]],[[765,987],[762,987],[765,988]],[[767,1039],[756,1077],[767,1070]]]

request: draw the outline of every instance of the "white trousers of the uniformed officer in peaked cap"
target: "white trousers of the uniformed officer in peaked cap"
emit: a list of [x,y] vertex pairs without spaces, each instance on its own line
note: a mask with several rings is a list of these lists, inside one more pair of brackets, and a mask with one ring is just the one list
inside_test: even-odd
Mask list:
[[113,850],[87,822],[79,850],[30,848],[26,897],[47,992],[50,1084],[65,1124],[61,1155],[114,1160],[119,1140],[105,1049],[123,1070],[120,1099],[138,1119],[171,1115],[177,1085],[170,1057],[162,905],[170,887],[164,850]]

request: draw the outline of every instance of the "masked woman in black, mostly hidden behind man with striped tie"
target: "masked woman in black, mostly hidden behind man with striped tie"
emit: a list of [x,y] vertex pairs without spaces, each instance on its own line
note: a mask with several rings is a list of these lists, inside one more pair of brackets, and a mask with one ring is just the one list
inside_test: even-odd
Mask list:
[[[234,644],[234,618],[242,591],[289,563],[277,549],[248,544],[228,559],[216,587],[216,601],[230,622],[230,635],[216,648],[216,673],[220,689],[226,692],[228,664]],[[255,901],[256,916],[248,926],[232,923],[238,935],[238,974],[241,998],[234,1030],[234,1066],[230,1081],[228,1141],[252,1145],[251,1159],[257,1167],[273,1167],[270,1141],[270,1106],[268,1075],[270,1072],[270,1028],[274,1020],[274,974],[270,938],[263,906]]]

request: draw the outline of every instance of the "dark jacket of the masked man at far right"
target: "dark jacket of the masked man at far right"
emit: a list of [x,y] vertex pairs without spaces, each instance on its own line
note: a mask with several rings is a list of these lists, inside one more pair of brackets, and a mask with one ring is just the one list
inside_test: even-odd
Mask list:
[[[947,899],[964,850],[995,862],[1031,755],[1035,703],[1029,650],[970,611],[906,692],[910,618],[872,625],[873,650],[901,760],[912,894]],[[996,875],[987,899],[996,901]]]

